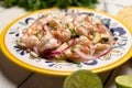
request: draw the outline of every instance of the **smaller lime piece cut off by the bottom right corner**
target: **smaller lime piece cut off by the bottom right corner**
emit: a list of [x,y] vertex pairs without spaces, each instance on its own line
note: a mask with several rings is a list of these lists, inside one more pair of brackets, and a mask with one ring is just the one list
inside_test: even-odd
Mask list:
[[132,88],[132,75],[118,76],[116,85],[117,88]]

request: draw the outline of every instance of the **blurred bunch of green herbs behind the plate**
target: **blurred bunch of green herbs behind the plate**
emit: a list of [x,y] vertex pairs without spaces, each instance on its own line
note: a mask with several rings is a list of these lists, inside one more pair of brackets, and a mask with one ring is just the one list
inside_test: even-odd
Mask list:
[[96,8],[98,0],[4,0],[7,8],[19,6],[25,10],[38,10],[52,7],[86,7]]

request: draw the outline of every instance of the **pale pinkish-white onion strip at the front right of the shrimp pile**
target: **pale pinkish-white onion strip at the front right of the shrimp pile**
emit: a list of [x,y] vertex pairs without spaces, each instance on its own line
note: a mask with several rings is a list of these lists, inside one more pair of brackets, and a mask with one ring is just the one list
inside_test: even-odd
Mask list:
[[84,54],[82,52],[80,52],[80,51],[78,51],[78,50],[74,50],[74,51],[75,51],[75,53],[76,53],[77,55],[79,55],[79,56],[80,56],[81,58],[84,58],[84,59],[91,61],[91,59],[97,58],[97,57],[95,57],[95,56]]

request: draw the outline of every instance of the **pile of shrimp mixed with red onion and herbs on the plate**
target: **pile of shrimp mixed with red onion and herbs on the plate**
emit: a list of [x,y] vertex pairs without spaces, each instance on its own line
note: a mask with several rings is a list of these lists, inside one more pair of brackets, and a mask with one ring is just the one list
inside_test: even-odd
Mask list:
[[89,14],[45,13],[18,40],[34,57],[87,62],[110,52],[114,41],[99,19]]

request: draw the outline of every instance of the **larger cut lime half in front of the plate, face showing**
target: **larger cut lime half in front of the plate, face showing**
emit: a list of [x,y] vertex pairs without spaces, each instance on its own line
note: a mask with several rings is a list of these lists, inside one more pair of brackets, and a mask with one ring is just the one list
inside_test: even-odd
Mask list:
[[63,88],[103,88],[100,78],[90,70],[79,69],[69,75]]

